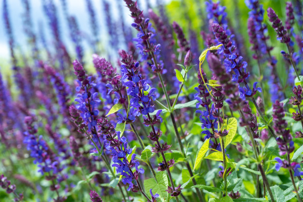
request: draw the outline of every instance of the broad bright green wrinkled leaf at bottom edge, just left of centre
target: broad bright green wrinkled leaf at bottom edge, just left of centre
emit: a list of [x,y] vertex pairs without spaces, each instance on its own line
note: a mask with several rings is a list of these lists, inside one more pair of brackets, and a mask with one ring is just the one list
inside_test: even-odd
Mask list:
[[144,187],[146,190],[146,194],[151,197],[150,193],[149,193],[149,189],[153,189],[153,194],[158,193],[160,196],[160,199],[162,201],[165,201],[166,199],[168,199],[168,193],[165,191],[167,189],[168,186],[168,179],[167,176],[165,174],[165,172],[159,172],[156,175],[156,179],[158,181],[158,183],[156,182],[156,180],[154,178],[150,178],[147,180],[144,180]]

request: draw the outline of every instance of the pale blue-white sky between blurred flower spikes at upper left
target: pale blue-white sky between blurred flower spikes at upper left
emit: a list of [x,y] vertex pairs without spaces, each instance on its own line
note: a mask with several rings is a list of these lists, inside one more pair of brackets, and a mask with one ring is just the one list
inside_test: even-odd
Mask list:
[[[69,33],[67,28],[66,19],[63,16],[63,10],[61,6],[60,0],[53,0],[55,5],[57,6],[57,11],[59,13],[59,23],[60,23],[60,29],[63,37],[63,41],[67,44],[68,48],[72,48],[71,40],[69,40]],[[89,16],[86,8],[85,0],[66,0],[67,1],[67,7],[68,12],[70,15],[76,16],[79,27],[81,30],[87,32],[90,34],[90,25],[89,25]],[[130,26],[132,23],[131,17],[128,15],[129,11],[126,7],[124,7],[123,0],[105,0],[109,3],[111,3],[111,9],[112,13],[114,15],[115,20],[118,19],[118,10],[116,8],[117,2],[120,2],[123,4],[123,9],[125,13],[125,21],[126,25]],[[156,0],[149,0],[151,5],[155,5]],[[160,0],[161,1],[161,0]],[[164,2],[169,2],[170,0],[162,0]],[[22,49],[22,52],[29,53],[30,49],[26,46],[26,35],[23,33],[23,22],[22,22],[22,13],[24,13],[24,9],[22,6],[22,0],[7,0],[8,2],[8,8],[9,8],[9,16],[11,21],[11,26],[13,28],[13,35],[15,38],[15,42],[17,45],[19,45]],[[31,7],[31,15],[33,20],[33,30],[37,34],[38,33],[38,26],[39,23],[42,22],[43,29],[45,32],[46,40],[49,40],[51,38],[51,34],[49,33],[47,20],[43,14],[42,10],[42,0],[29,0],[30,7]],[[102,40],[107,39],[107,31],[105,26],[105,16],[103,15],[104,9],[102,5],[102,0],[91,0],[97,22],[99,24],[100,28],[100,37]],[[139,1],[140,8],[143,8],[143,10],[146,8],[145,0]],[[6,66],[9,64],[9,46],[8,46],[8,37],[5,31],[4,26],[4,20],[3,20],[3,0],[0,0],[0,66]],[[145,9],[146,10],[146,9]],[[84,48],[87,46],[87,44],[84,44]]]

